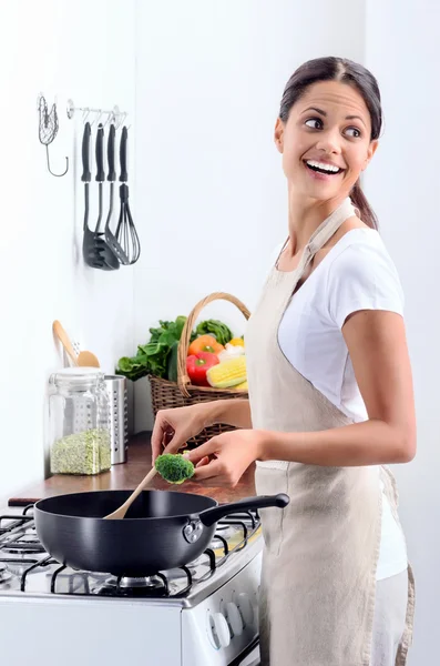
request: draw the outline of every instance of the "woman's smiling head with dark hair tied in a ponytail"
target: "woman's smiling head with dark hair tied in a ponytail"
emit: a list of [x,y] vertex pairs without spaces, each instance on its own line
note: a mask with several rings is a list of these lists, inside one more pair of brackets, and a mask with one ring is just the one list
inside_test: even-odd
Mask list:
[[[331,201],[342,190],[350,194],[364,222],[376,229],[376,216],[362,194],[359,176],[378,147],[382,121],[379,89],[372,77],[361,75],[364,68],[350,63],[352,71],[348,72],[342,61],[332,63],[336,80],[318,78],[305,88],[305,80],[315,78],[320,62],[323,59],[310,61],[293,74],[275,127],[283,169],[291,183],[289,194],[295,196],[299,189],[303,194]],[[372,92],[370,97],[359,93],[355,83],[359,79]],[[311,178],[306,180],[304,174]]]

